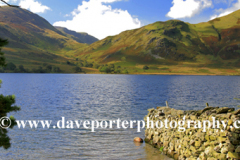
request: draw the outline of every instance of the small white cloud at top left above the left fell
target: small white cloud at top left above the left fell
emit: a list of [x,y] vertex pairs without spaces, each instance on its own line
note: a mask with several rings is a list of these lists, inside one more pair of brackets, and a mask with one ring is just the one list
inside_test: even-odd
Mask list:
[[48,6],[44,6],[35,0],[20,0],[19,6],[29,9],[33,13],[44,13],[47,10],[51,10]]

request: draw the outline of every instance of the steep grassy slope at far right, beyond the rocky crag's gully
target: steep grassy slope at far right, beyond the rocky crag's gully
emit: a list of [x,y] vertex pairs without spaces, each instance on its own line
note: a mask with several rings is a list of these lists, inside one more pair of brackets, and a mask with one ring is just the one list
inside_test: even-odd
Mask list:
[[240,57],[240,10],[230,15],[195,25],[211,53],[224,60]]

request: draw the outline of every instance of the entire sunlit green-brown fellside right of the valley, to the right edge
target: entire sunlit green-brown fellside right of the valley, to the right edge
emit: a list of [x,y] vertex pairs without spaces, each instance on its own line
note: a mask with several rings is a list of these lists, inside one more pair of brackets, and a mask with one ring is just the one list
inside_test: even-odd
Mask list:
[[240,11],[199,24],[179,20],[156,22],[80,48],[75,56],[99,63],[233,60],[229,64],[235,65],[240,57],[239,27]]

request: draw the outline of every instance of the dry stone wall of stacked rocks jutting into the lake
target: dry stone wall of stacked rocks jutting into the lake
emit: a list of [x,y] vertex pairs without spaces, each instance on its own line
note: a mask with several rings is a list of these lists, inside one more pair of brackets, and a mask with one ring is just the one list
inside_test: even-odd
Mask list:
[[[169,107],[157,107],[157,109],[149,109],[149,113],[144,117],[147,124],[147,117],[150,121],[201,121],[209,120],[212,117],[216,121],[225,121],[228,126],[224,130],[223,125],[220,129],[213,129],[212,126],[203,132],[203,129],[191,128],[187,129],[187,123],[183,127],[184,132],[180,132],[179,128],[146,128],[145,142],[157,147],[164,154],[176,160],[226,160],[240,159],[240,129],[230,127],[237,120],[240,120],[240,110],[234,111],[234,108],[228,107],[206,107],[198,111],[182,111]],[[240,124],[238,124],[240,126]],[[224,130],[223,132],[221,130]]]

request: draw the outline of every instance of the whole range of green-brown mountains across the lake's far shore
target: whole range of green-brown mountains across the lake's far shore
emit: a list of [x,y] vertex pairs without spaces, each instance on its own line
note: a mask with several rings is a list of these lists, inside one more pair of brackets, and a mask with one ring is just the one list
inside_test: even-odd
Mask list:
[[0,37],[10,42],[4,48],[7,60],[27,67],[78,59],[114,64],[128,73],[239,74],[239,31],[240,10],[198,24],[159,21],[98,41],[54,27],[30,11],[0,8]]

